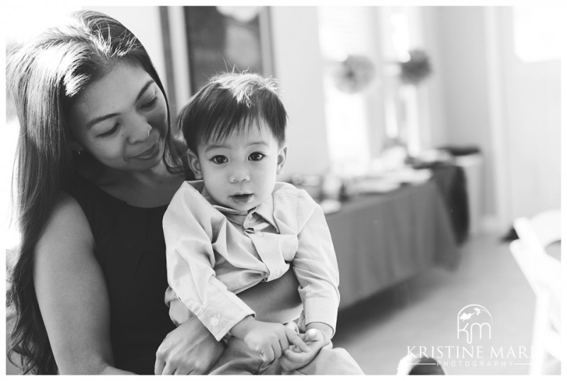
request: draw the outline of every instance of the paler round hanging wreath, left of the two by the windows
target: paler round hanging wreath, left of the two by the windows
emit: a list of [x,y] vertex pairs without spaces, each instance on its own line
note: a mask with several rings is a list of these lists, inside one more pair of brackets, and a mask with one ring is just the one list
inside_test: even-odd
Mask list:
[[349,55],[335,70],[335,85],[344,93],[358,93],[369,86],[374,72],[374,64],[368,57]]

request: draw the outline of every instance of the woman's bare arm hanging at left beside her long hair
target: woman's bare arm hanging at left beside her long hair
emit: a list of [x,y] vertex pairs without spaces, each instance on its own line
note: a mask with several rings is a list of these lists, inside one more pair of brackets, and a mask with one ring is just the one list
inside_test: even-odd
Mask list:
[[89,223],[62,195],[35,248],[33,278],[61,374],[125,374],[113,368],[108,291]]

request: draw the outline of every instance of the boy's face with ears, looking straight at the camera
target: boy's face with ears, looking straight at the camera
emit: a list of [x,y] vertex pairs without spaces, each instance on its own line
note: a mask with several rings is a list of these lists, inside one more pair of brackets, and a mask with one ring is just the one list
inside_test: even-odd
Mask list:
[[244,212],[274,191],[286,153],[261,120],[259,128],[252,124],[225,141],[199,144],[196,155],[189,152],[189,164],[216,203]]

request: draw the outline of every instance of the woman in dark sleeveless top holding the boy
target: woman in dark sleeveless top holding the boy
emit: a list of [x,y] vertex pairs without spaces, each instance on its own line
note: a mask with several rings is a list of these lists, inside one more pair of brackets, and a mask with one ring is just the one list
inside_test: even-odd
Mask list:
[[[18,50],[7,79],[21,125],[11,359],[23,373],[205,373],[223,347],[164,305],[162,217],[192,176],[140,41],[74,13]],[[288,274],[239,296],[271,321],[274,306],[296,316],[296,287]]]

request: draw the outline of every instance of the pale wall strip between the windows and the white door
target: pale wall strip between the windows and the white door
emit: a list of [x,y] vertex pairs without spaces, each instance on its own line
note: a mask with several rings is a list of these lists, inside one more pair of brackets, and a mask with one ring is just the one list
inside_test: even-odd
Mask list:
[[472,145],[481,149],[481,213],[495,214],[493,147],[488,105],[488,72],[483,7],[433,8],[437,21],[437,46],[441,78],[444,144]]

